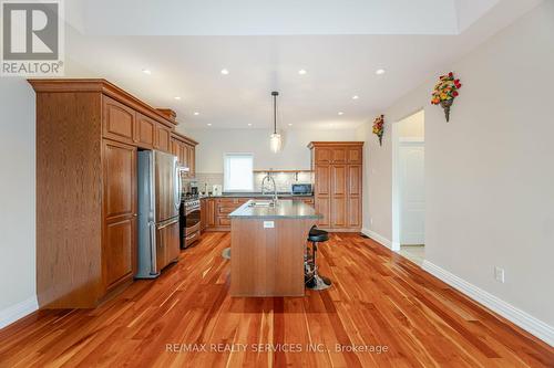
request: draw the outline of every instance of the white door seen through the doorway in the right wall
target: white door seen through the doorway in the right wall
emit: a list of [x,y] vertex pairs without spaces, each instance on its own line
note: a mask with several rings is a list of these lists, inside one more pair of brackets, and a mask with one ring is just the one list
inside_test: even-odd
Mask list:
[[425,243],[423,143],[400,143],[400,244]]

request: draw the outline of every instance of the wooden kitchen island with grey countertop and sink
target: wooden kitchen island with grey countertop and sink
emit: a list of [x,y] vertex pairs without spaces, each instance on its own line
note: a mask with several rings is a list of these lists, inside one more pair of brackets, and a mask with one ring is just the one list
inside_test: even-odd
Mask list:
[[304,254],[321,218],[301,201],[249,200],[230,218],[230,295],[304,296]]

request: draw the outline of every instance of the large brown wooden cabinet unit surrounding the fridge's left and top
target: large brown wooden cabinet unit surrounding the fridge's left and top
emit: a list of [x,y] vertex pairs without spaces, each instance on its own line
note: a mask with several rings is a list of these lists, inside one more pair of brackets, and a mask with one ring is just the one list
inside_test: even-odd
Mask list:
[[170,151],[176,122],[104,80],[29,83],[37,92],[39,306],[94,307],[133,281],[137,150]]

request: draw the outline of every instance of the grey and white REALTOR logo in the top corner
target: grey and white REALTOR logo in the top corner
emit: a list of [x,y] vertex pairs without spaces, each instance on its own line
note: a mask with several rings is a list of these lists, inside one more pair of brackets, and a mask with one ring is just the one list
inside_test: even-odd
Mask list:
[[63,75],[61,0],[4,0],[1,75]]

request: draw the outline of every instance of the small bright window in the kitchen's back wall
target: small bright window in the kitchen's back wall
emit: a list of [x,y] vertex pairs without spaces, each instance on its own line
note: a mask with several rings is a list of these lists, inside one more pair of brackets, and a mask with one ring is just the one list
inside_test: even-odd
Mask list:
[[252,154],[225,154],[223,158],[223,190],[254,190],[254,156]]

